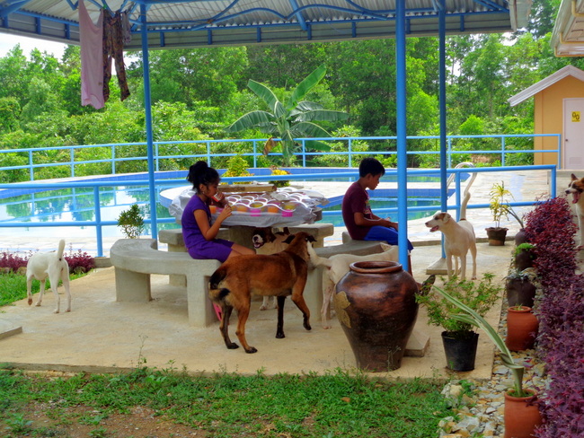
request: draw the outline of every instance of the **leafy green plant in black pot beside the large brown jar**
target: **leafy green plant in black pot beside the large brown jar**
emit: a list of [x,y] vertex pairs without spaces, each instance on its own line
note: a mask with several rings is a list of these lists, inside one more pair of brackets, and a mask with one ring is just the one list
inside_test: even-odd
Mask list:
[[[501,292],[501,287],[493,284],[493,278],[492,274],[486,273],[480,281],[461,282],[458,277],[453,276],[444,283],[444,289],[473,311],[485,315],[497,302]],[[426,306],[429,324],[444,329],[441,335],[447,367],[453,371],[473,370],[479,338],[473,325],[453,318],[452,315],[460,310],[438,293],[430,291],[428,294],[420,294],[416,296],[416,300]]]

